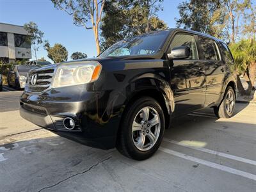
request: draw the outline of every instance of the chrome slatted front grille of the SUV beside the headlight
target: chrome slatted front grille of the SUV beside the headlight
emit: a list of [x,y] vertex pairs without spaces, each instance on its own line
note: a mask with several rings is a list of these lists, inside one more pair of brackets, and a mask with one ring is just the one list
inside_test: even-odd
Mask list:
[[[43,92],[51,86],[54,69],[30,72],[28,76],[28,92]],[[35,84],[31,83],[32,76],[36,75]]]

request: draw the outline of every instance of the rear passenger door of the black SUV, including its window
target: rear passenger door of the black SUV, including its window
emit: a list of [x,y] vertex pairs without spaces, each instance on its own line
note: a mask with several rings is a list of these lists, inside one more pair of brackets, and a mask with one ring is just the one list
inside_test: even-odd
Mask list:
[[205,106],[213,106],[221,96],[223,79],[225,76],[225,65],[221,61],[220,50],[215,40],[198,36],[200,47],[200,59],[205,66],[206,95]]

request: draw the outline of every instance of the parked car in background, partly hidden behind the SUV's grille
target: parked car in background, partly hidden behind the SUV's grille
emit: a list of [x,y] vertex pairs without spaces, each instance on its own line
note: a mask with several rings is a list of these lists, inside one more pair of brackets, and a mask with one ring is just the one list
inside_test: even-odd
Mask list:
[[8,86],[16,89],[25,88],[29,70],[36,68],[36,65],[14,65],[7,75]]

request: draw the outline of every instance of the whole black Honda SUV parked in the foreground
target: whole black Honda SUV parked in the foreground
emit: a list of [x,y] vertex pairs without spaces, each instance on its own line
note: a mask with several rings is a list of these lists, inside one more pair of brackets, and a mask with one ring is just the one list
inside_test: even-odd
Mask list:
[[233,115],[233,71],[221,40],[184,29],[154,31],[97,58],[31,70],[20,115],[65,138],[147,159],[173,116],[207,107],[220,118]]

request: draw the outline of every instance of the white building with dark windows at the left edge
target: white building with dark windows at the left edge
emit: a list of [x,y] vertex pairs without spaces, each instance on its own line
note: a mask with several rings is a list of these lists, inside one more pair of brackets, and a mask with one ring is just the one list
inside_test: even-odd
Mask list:
[[23,26],[0,22],[0,59],[14,62],[31,58],[31,45],[26,40],[28,32]]

